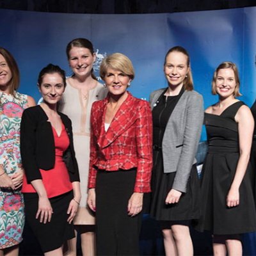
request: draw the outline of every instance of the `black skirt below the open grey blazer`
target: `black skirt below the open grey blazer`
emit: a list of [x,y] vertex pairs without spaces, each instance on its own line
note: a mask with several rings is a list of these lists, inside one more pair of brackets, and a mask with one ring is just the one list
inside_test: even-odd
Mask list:
[[196,165],[191,168],[186,193],[182,193],[177,204],[166,205],[165,199],[172,189],[175,174],[163,172],[162,152],[154,150],[150,216],[159,221],[196,220],[200,217],[200,180]]

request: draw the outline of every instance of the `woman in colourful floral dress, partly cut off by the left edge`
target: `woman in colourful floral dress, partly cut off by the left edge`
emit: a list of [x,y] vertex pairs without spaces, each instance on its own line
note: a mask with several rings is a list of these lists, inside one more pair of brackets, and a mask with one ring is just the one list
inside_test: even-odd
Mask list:
[[13,56],[0,47],[0,256],[19,255],[24,227],[24,202],[20,188],[20,119],[35,105],[28,95],[16,92],[19,68]]

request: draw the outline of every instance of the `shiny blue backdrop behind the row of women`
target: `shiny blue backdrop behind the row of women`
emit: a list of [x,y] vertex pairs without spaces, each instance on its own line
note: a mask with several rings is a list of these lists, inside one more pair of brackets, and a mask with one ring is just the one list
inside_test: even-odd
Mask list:
[[[0,45],[17,60],[19,91],[39,99],[36,78],[48,63],[70,74],[65,47],[70,40],[92,40],[97,52],[95,72],[106,54],[122,52],[136,70],[131,92],[148,99],[153,90],[167,86],[163,76],[166,51],[182,45],[191,56],[195,89],[202,93],[205,108],[216,102],[211,95],[214,68],[233,61],[241,77],[241,100],[255,100],[256,7],[207,12],[141,15],[90,15],[0,10]],[[205,136],[203,135],[204,139]],[[256,255],[255,237],[246,239],[246,253]]]

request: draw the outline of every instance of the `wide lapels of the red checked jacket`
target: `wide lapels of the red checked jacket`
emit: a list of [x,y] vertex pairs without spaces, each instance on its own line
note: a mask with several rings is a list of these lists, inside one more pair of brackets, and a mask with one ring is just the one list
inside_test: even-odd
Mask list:
[[138,118],[138,109],[136,109],[138,104],[136,103],[139,101],[128,92],[127,99],[125,99],[116,112],[116,115],[109,125],[108,131],[105,131],[104,119],[108,101],[109,95],[106,99],[102,100],[102,104],[100,104],[99,108],[95,109],[95,118],[93,118],[92,121],[93,127],[99,128],[95,129],[95,136],[97,137],[97,143],[100,148],[108,147],[118,136],[127,131]]

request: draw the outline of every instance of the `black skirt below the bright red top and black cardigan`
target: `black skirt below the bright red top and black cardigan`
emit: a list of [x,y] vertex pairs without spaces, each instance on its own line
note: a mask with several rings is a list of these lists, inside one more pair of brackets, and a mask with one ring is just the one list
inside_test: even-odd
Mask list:
[[72,198],[73,191],[49,198],[53,214],[51,221],[44,224],[35,218],[38,211],[37,193],[24,193],[26,221],[44,253],[60,248],[65,241],[75,237],[73,224],[67,222],[68,205]]

